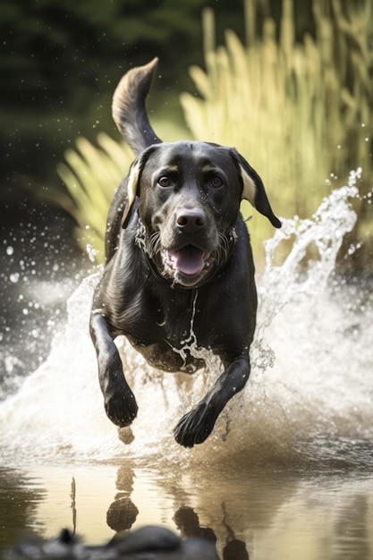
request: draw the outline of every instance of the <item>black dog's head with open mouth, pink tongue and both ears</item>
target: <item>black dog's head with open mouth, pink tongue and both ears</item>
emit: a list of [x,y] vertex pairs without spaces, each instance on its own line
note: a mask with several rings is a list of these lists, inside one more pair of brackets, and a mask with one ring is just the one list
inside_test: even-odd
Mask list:
[[198,286],[228,259],[242,199],[281,227],[259,175],[234,149],[197,141],[159,143],[131,165],[127,227],[138,196],[145,247],[161,276]]

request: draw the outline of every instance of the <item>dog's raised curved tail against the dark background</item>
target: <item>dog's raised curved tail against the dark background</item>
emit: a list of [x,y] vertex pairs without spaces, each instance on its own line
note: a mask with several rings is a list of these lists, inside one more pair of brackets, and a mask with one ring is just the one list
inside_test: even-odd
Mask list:
[[148,146],[162,142],[148,122],[145,108],[145,99],[157,63],[156,57],[145,66],[132,68],[124,74],[114,91],[112,105],[114,123],[136,156],[139,156]]

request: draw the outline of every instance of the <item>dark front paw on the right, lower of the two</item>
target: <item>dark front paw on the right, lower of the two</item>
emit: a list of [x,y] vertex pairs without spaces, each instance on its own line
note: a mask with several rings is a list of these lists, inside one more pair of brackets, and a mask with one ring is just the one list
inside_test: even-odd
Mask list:
[[206,404],[201,403],[191,412],[182,417],[174,428],[174,438],[184,447],[201,444],[211,434],[217,416],[208,410]]

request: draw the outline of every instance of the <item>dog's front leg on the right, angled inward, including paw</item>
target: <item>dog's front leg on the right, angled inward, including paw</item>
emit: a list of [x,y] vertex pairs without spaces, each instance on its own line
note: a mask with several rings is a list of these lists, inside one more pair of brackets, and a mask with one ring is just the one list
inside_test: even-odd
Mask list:
[[174,428],[177,443],[184,447],[192,447],[205,441],[225,404],[242,390],[249,375],[249,355],[239,356],[232,361],[207,395],[191,412],[185,414]]

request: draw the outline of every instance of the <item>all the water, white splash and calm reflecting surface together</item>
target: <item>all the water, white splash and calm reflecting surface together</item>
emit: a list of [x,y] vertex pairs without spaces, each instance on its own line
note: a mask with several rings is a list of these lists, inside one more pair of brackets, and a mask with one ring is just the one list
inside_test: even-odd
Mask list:
[[[0,405],[0,546],[63,527],[99,544],[157,523],[216,538],[222,559],[372,558],[373,289],[334,273],[352,196],[334,191],[267,243],[250,382],[191,450],[173,427],[219,364],[163,374],[118,340],[140,406],[120,439],[88,334],[98,273],[86,278],[47,360]],[[286,237],[292,251],[275,266]],[[318,259],[305,271],[310,243]]]

